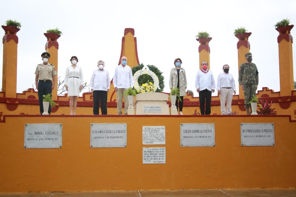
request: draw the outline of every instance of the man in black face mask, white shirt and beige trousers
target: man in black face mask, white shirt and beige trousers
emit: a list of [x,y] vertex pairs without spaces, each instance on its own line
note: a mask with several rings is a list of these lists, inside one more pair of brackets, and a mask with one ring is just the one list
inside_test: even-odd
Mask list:
[[[218,96],[220,95],[221,115],[231,115],[232,94],[235,94],[235,81],[229,73],[229,65],[223,66],[223,72],[218,75],[217,79]],[[225,109],[225,101],[227,110]]]

